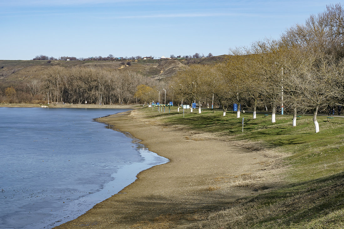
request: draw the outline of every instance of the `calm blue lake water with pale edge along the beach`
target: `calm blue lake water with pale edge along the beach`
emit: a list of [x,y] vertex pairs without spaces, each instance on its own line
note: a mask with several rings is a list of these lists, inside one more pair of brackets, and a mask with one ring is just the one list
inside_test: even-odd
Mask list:
[[92,120],[122,111],[1,107],[0,228],[60,225],[166,163]]

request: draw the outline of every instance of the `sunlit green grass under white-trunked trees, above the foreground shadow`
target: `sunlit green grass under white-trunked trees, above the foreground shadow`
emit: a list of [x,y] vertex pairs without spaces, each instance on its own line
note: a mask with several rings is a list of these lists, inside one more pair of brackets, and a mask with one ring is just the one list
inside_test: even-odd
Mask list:
[[[326,116],[318,116],[320,132],[315,133],[313,116],[303,115],[297,120],[297,126],[292,127],[292,116],[277,115],[276,122],[271,123],[271,116],[257,114],[253,119],[252,113],[227,112],[204,109],[198,114],[198,109],[190,113],[185,110],[176,112],[173,107],[168,113],[158,112],[157,108],[146,108],[150,119],[159,118],[166,125],[181,125],[192,131],[202,131],[228,136],[233,140],[249,140],[263,142],[264,147],[273,148],[290,154],[284,159],[285,163],[293,166],[288,173],[290,181],[307,181],[323,176],[340,173],[344,168],[344,119],[335,117],[327,122]],[[242,126],[244,118],[244,131]]]

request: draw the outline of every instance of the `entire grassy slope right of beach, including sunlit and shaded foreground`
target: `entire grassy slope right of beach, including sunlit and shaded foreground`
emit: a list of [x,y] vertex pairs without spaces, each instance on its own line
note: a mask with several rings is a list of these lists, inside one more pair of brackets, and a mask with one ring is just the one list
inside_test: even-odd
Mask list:
[[[208,219],[191,228],[343,228],[344,227],[344,119],[327,122],[318,116],[320,132],[315,133],[312,116],[303,115],[292,127],[292,117],[270,118],[252,114],[204,110],[179,114],[158,113],[147,109],[150,118],[166,125],[182,125],[194,131],[206,131],[233,140],[259,142],[263,147],[286,152],[281,163],[288,167],[284,185],[272,191],[238,200],[224,210],[211,212]],[[197,110],[198,111],[198,110]],[[270,117],[270,116],[269,116]],[[244,118],[244,132],[242,132]]]

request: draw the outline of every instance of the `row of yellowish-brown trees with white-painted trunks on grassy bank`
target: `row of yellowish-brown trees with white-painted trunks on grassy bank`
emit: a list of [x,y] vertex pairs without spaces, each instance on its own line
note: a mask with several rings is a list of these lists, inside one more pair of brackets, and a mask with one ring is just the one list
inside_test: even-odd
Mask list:
[[319,132],[318,111],[344,100],[343,35],[342,6],[327,6],[325,12],[293,26],[278,40],[231,50],[225,63],[187,66],[175,78],[174,95],[200,105],[214,98],[224,115],[237,103],[252,107],[256,118],[257,106],[268,105],[272,122],[281,106],[294,114],[293,126],[297,113],[312,111]]

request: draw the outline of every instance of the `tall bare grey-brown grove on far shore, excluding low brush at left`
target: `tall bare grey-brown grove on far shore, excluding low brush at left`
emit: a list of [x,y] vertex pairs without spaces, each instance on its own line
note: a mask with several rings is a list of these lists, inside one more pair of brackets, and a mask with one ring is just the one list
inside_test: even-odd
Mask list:
[[45,84],[56,102],[128,104],[134,102],[138,85],[154,81],[133,71],[52,67],[46,73]]

